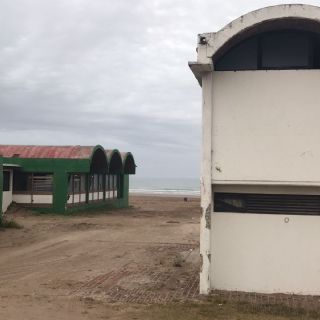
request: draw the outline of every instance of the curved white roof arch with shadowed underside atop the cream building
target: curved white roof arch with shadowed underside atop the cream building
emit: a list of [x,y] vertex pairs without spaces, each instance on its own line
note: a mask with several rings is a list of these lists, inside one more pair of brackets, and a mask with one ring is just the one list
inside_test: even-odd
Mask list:
[[199,35],[199,47],[201,49],[205,45],[206,58],[216,60],[243,40],[263,32],[290,29],[320,33],[319,19],[320,8],[316,6],[287,4],[265,7],[239,17],[216,33]]

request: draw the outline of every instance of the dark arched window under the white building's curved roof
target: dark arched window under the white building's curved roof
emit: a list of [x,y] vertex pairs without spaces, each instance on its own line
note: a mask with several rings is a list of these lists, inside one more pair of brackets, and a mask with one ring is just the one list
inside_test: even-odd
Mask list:
[[313,32],[265,32],[232,47],[215,62],[217,71],[320,69],[320,36]]

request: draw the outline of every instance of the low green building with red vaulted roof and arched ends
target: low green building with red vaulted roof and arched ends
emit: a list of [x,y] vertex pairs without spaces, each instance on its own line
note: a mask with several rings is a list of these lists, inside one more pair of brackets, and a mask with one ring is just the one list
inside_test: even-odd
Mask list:
[[66,213],[129,204],[130,152],[102,146],[0,145],[0,210],[12,202]]

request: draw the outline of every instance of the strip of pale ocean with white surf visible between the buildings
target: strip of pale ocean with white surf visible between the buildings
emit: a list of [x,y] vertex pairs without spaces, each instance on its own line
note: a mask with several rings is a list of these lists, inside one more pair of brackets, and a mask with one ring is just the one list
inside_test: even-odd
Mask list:
[[200,180],[196,178],[140,178],[130,176],[131,194],[200,196]]

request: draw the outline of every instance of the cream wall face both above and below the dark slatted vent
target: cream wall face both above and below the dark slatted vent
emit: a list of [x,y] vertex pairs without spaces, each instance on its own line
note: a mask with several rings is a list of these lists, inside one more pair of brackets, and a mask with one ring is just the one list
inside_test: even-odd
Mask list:
[[[213,73],[214,191],[320,193],[319,83],[319,70]],[[211,288],[320,294],[319,227],[312,216],[212,213]]]

